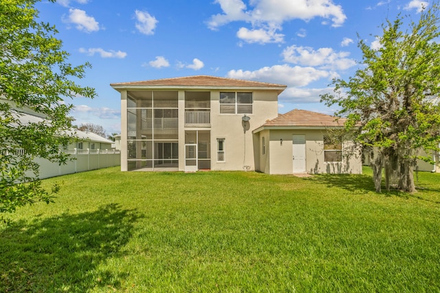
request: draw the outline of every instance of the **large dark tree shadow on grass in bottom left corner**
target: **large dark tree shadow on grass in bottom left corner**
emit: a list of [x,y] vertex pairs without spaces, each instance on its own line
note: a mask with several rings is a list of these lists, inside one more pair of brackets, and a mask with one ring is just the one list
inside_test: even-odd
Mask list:
[[99,266],[123,255],[138,218],[135,211],[108,204],[93,212],[12,223],[0,232],[0,292],[118,288],[124,276]]

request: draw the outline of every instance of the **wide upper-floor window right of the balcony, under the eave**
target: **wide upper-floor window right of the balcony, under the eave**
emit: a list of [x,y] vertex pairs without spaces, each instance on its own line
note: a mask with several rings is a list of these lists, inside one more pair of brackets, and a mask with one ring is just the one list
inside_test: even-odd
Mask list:
[[221,114],[252,114],[252,93],[220,93]]

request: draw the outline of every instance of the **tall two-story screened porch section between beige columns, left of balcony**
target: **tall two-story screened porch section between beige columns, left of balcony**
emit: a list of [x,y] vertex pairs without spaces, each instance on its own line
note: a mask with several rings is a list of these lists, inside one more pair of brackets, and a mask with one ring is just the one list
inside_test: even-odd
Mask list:
[[177,91],[127,92],[128,169],[179,166]]

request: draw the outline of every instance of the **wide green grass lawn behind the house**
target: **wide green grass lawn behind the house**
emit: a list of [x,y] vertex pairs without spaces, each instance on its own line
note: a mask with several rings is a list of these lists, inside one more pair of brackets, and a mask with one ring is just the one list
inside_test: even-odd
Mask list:
[[1,292],[440,292],[440,174],[119,172],[50,178],[0,226]]

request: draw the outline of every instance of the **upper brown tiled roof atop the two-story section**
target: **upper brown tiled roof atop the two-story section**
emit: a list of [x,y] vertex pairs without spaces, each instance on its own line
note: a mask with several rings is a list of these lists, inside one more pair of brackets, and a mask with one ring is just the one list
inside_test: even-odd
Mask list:
[[254,82],[250,80],[236,80],[232,78],[217,78],[209,75],[195,75],[184,78],[164,78],[162,80],[145,80],[142,82],[119,82],[110,84],[114,88],[120,86],[197,86],[197,87],[262,87],[278,88],[284,90],[287,86],[283,84],[272,84],[268,82]]

